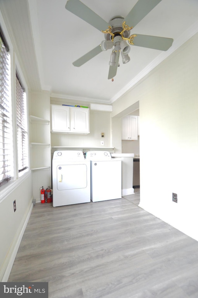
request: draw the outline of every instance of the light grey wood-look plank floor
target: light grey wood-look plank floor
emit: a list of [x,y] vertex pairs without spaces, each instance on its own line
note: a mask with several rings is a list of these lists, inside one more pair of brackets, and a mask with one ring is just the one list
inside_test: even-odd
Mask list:
[[197,298],[198,242],[122,199],[37,203],[9,282],[49,282],[49,298]]

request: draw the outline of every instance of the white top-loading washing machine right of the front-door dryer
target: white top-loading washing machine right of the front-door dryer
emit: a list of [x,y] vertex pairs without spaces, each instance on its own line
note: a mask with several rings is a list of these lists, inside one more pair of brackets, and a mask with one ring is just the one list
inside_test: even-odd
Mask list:
[[93,202],[122,197],[122,161],[111,158],[108,151],[88,151],[91,166],[91,200]]

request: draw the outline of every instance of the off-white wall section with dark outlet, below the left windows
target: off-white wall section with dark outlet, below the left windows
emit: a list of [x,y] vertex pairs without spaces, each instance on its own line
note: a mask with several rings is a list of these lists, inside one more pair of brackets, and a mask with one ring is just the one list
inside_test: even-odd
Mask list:
[[[27,176],[28,175],[28,176]],[[8,278],[14,262],[24,224],[32,209],[32,176],[30,172],[0,203],[0,280]],[[9,186],[8,186],[9,187]],[[14,212],[13,201],[16,200]],[[5,274],[5,275],[4,275]],[[2,280],[4,276],[4,279]]]

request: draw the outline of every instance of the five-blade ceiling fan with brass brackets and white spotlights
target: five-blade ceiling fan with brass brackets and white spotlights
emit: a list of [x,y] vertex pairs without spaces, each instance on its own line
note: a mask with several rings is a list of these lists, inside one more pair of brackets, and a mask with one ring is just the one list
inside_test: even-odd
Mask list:
[[[93,50],[74,61],[73,65],[79,67],[102,51],[111,49],[108,79],[112,79],[113,81],[113,77],[115,77],[119,66],[120,53],[123,64],[130,61],[128,53],[130,52],[131,47],[129,45],[142,46],[162,51],[168,50],[173,43],[172,38],[142,34],[130,35],[130,30],[136,26],[159,2],[161,2],[161,0],[138,0],[126,18],[117,15],[114,16],[109,23],[107,23],[81,1],[68,0],[65,5],[65,8],[68,11],[77,15],[79,18],[105,34],[105,40],[103,40],[100,45],[96,46]],[[129,42],[129,45],[126,41]]]

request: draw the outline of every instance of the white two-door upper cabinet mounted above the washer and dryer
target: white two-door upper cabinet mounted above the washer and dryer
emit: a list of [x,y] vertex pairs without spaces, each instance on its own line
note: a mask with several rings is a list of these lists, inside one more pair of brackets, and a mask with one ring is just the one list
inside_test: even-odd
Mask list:
[[88,134],[89,109],[52,104],[51,132],[67,134]]

